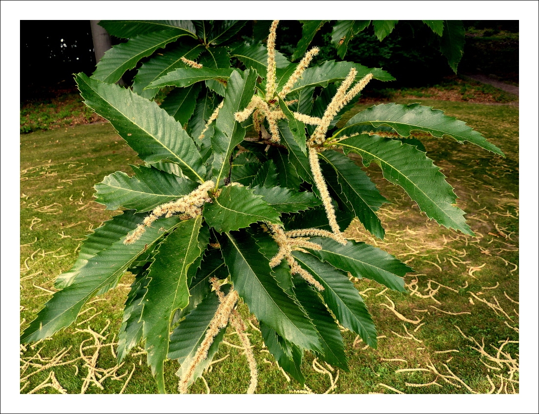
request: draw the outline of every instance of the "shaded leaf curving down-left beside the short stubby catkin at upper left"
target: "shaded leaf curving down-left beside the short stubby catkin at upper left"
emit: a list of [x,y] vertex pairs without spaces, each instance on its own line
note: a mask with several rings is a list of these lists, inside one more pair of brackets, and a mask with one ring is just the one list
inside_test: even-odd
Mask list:
[[[167,47],[163,53],[157,53],[147,62],[144,62],[133,80],[133,92],[147,99],[154,99],[159,88],[144,89],[167,73],[178,68],[186,68],[182,58],[196,60],[204,47],[195,40],[182,41],[179,44]],[[168,112],[168,111],[167,111]],[[169,113],[170,115],[170,113]]]

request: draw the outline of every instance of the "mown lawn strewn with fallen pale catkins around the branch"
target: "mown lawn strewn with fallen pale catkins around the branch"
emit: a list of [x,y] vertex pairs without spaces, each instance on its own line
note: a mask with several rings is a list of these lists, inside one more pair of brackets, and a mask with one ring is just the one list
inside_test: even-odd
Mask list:
[[[351,224],[347,236],[378,245],[407,261],[416,273],[405,278],[409,294],[384,292],[375,282],[364,279],[355,281],[378,327],[378,349],[365,347],[355,334],[343,332],[350,371],[338,371],[338,378],[336,369],[331,371],[321,363],[324,371],[316,365],[313,355],[306,354],[303,371],[313,392],[395,392],[385,385],[407,394],[468,394],[470,390],[483,393],[493,387],[494,392],[519,391],[519,373],[509,369],[517,367],[518,343],[507,342],[502,349],[507,355],[500,353],[499,359],[514,359],[510,363],[497,364],[474,349],[478,348],[474,340],[479,345],[484,341],[485,352],[496,357],[498,351],[493,346],[499,348],[506,340],[519,340],[514,329],[519,326],[518,305],[510,300],[519,300],[519,142],[515,127],[519,109],[433,100],[421,103],[466,120],[499,146],[507,158],[493,157],[449,138],[424,141],[429,156],[455,187],[458,205],[468,213],[475,237],[440,228],[427,220],[400,187],[384,181],[376,166],[369,167],[382,194],[392,202],[380,211],[386,238],[374,240],[358,222]],[[116,170],[128,172],[128,164],[137,162],[135,153],[114,134],[110,124],[78,125],[20,136],[21,329],[48,299],[56,276],[71,267],[85,235],[115,214],[93,202],[93,185]],[[51,385],[38,388],[37,393],[56,393],[58,385],[54,384],[75,394],[81,390],[156,392],[142,349],[134,349],[121,367],[115,367],[114,344],[130,282],[127,275],[117,289],[87,304],[77,322],[52,339],[21,348],[23,393],[40,384]],[[497,300],[507,315],[477,298],[495,307]],[[409,321],[400,320],[388,308],[390,300]],[[240,312],[257,326],[245,305],[240,306]],[[420,322],[411,322],[417,320]],[[465,338],[457,327],[474,340]],[[260,374],[257,392],[307,391],[281,373],[265,351],[260,333],[251,326],[248,332]],[[232,332],[226,341],[240,343]],[[55,355],[57,360],[53,359]],[[216,355],[216,359],[222,358],[226,359],[204,374],[211,392],[245,392],[248,368],[241,350],[223,343]],[[177,368],[174,361],[165,365],[169,392],[177,392]],[[399,369],[421,370],[396,372]],[[510,380],[501,380],[497,375]],[[439,385],[409,385],[435,380]],[[206,392],[203,380],[197,380],[190,391]]]

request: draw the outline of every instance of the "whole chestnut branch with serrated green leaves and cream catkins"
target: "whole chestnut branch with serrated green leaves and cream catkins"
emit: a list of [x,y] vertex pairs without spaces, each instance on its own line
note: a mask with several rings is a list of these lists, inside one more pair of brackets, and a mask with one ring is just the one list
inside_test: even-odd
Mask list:
[[[309,67],[317,47],[291,63],[275,50],[278,20],[267,46],[235,38],[245,25],[235,20],[101,24],[129,41],[106,52],[91,78],[75,79],[85,103],[145,165],[133,166],[133,177],[115,172],[95,186],[96,201],[124,210],[88,236],[23,342],[69,326],[88,300],[130,271],[135,281],[118,356],[143,341],[160,392],[165,359],[181,364],[179,390],[187,392],[227,326],[245,345],[254,392],[257,369],[236,310],[240,299],[269,352],[297,381],[304,381],[305,352],[347,369],[338,324],[376,347],[374,322],[347,273],[404,291],[412,270],[344,237],[357,217],[383,238],[376,212],[388,201],[350,152],[364,165],[377,163],[431,219],[472,234],[452,187],[418,148],[421,138],[451,137],[502,155],[479,132],[418,104],[380,104],[337,127],[371,80],[392,79],[382,69],[347,61]],[[150,55],[132,89],[114,85]],[[231,68],[231,57],[245,69]],[[172,86],[161,106],[150,101]],[[254,137],[246,135],[251,127]]]

